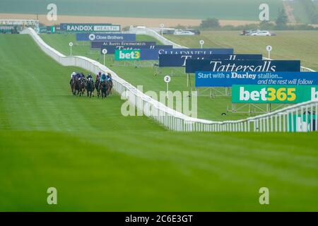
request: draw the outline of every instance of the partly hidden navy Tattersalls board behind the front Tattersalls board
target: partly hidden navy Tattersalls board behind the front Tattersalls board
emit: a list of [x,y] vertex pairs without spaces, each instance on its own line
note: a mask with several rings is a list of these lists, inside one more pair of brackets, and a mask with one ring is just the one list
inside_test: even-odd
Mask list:
[[209,60],[261,60],[261,54],[160,54],[160,67],[186,66],[187,59],[209,59]]

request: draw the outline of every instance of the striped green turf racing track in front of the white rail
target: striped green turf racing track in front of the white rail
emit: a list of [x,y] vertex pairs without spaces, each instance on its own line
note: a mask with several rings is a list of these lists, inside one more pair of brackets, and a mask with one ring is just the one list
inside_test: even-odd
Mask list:
[[316,133],[167,131],[122,117],[119,95],[73,97],[81,69],[28,35],[0,35],[0,49],[0,210],[317,210]]

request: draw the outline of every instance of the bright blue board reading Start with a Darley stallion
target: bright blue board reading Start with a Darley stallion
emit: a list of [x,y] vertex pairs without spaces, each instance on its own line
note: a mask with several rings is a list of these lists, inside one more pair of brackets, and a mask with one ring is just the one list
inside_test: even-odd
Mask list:
[[196,71],[196,87],[232,85],[318,85],[318,72]]

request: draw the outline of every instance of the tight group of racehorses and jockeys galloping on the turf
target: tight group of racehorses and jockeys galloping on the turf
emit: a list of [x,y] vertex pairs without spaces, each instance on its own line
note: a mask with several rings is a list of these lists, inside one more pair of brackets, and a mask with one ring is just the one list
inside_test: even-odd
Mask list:
[[[88,97],[92,97],[94,90],[96,90],[98,98],[100,95],[102,99],[109,96],[112,93],[112,76],[110,73],[105,74],[98,73],[96,76],[95,82],[93,81],[93,77],[90,74],[86,77],[83,73],[75,73],[71,74],[71,81],[69,82],[71,85],[71,91],[73,95],[85,95],[87,93]],[[93,95],[94,96],[94,95]]]

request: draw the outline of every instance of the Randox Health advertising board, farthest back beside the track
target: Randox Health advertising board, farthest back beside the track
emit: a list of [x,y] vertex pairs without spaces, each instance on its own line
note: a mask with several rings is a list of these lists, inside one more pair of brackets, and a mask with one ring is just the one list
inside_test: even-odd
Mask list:
[[111,23],[61,23],[59,28],[66,32],[120,32],[120,25]]

